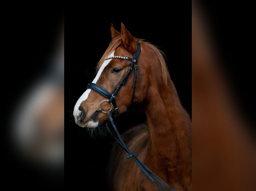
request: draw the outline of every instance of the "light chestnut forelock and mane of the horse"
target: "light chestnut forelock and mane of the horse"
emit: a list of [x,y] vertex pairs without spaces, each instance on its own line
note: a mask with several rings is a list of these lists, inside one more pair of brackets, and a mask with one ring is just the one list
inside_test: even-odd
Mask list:
[[[161,65],[162,77],[163,77],[164,84],[167,86],[167,77],[169,76],[169,71],[168,71],[168,68],[167,68],[167,62],[166,62],[167,59],[166,59],[165,54],[159,49],[159,47],[145,41],[144,39],[138,39],[138,42],[140,42],[141,45],[142,44],[145,45],[145,47],[147,47],[148,49],[151,49],[154,52],[154,54],[156,55],[157,59],[159,60],[160,65]],[[101,57],[101,59],[97,63],[96,72],[99,71],[101,65],[105,61],[105,58],[108,57],[121,44],[122,44],[121,36],[118,36],[118,37],[114,38],[109,43],[108,48],[106,49],[103,56]]]

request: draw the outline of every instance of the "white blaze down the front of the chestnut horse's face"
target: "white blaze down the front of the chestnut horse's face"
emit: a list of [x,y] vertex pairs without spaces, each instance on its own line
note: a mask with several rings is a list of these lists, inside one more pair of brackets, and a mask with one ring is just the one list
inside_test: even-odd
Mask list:
[[[114,52],[115,52],[115,51],[114,51]],[[112,52],[109,56],[114,56],[114,52]],[[108,60],[105,60],[105,61],[103,62],[103,64],[101,65],[101,67],[100,67],[100,69],[99,69],[99,71],[98,71],[96,77],[95,77],[94,80],[93,80],[93,83],[95,83],[95,84],[97,83],[97,81],[99,80],[99,78],[100,78],[100,76],[101,76],[101,73],[103,72],[104,68],[109,64],[109,62],[110,62],[111,60],[112,60],[112,59],[108,59]],[[79,106],[81,105],[81,103],[82,103],[83,101],[85,101],[85,100],[88,98],[88,95],[89,95],[90,92],[91,92],[91,89],[86,90],[86,91],[84,92],[84,94],[81,95],[81,97],[77,100],[77,103],[76,103],[76,105],[75,105],[75,107],[74,107],[74,111],[73,111],[73,115],[74,115],[74,116],[78,116],[78,115],[79,115],[80,110],[79,110],[78,108],[79,108]]]

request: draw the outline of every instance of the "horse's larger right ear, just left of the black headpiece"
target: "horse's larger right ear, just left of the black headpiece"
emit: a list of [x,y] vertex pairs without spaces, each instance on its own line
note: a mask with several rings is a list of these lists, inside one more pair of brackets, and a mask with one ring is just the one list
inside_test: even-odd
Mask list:
[[121,37],[123,40],[124,47],[135,53],[137,50],[137,39],[125,28],[124,24],[121,23]]

